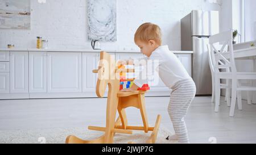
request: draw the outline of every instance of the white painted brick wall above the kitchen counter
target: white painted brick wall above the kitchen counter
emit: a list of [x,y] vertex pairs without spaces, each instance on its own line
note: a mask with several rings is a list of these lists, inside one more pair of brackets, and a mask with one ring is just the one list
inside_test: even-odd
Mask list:
[[[227,1],[227,0],[224,0]],[[117,0],[117,41],[101,43],[104,49],[138,49],[133,42],[137,27],[144,22],[159,24],[163,44],[180,50],[180,19],[191,10],[218,10],[208,0]],[[31,30],[0,30],[0,48],[35,48],[36,36],[49,40],[49,48],[91,48],[87,39],[86,1],[31,0]]]

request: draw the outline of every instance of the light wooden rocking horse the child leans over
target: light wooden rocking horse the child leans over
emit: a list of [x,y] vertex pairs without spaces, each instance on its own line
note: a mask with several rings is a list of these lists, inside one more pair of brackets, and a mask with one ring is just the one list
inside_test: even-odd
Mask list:
[[[106,86],[108,84],[108,101],[106,107],[106,127],[89,126],[88,129],[105,132],[104,135],[94,140],[81,140],[76,136],[68,136],[66,143],[70,144],[110,144],[113,143],[115,133],[132,134],[132,130],[142,130],[144,132],[152,131],[151,136],[146,143],[155,143],[158,135],[161,116],[158,115],[155,127],[148,127],[146,108],[144,103],[144,94],[146,91],[119,91],[119,73],[135,72],[134,69],[118,69],[115,60],[108,53],[100,53],[100,62],[98,69],[93,73],[98,73],[96,94],[98,97],[104,97]],[[136,107],[141,111],[143,127],[129,126],[127,124],[125,108]],[[119,117],[115,120],[116,112]]]

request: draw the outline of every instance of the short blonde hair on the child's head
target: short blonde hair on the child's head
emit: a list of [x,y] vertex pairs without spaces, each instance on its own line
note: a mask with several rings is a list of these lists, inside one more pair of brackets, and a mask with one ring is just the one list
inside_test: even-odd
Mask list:
[[158,25],[152,23],[144,23],[135,32],[134,42],[146,42],[154,40],[157,44],[162,45],[162,33]]

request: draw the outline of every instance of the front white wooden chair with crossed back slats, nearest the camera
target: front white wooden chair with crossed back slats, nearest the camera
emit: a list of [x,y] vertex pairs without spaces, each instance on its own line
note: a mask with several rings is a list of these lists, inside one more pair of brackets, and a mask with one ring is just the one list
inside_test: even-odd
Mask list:
[[[234,116],[234,109],[236,106],[236,99],[238,109],[242,110],[241,91],[256,91],[256,87],[241,86],[241,79],[256,79],[256,73],[237,72],[234,61],[234,52],[232,44],[232,31],[219,33],[209,38],[210,56],[214,62],[214,93],[215,93],[215,111],[218,112],[220,105],[220,79],[232,80],[232,99],[229,116]],[[216,45],[217,44],[217,45]],[[222,45],[221,49],[217,49],[218,45]],[[228,46],[228,50],[224,50]],[[223,54],[227,53],[229,58]],[[228,68],[228,69],[227,69]],[[221,70],[225,69],[225,70]]]

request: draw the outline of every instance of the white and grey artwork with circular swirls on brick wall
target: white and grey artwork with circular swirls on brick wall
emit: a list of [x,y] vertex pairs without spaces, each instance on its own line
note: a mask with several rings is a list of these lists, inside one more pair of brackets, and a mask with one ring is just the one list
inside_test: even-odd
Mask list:
[[117,41],[117,1],[88,0],[88,39]]

